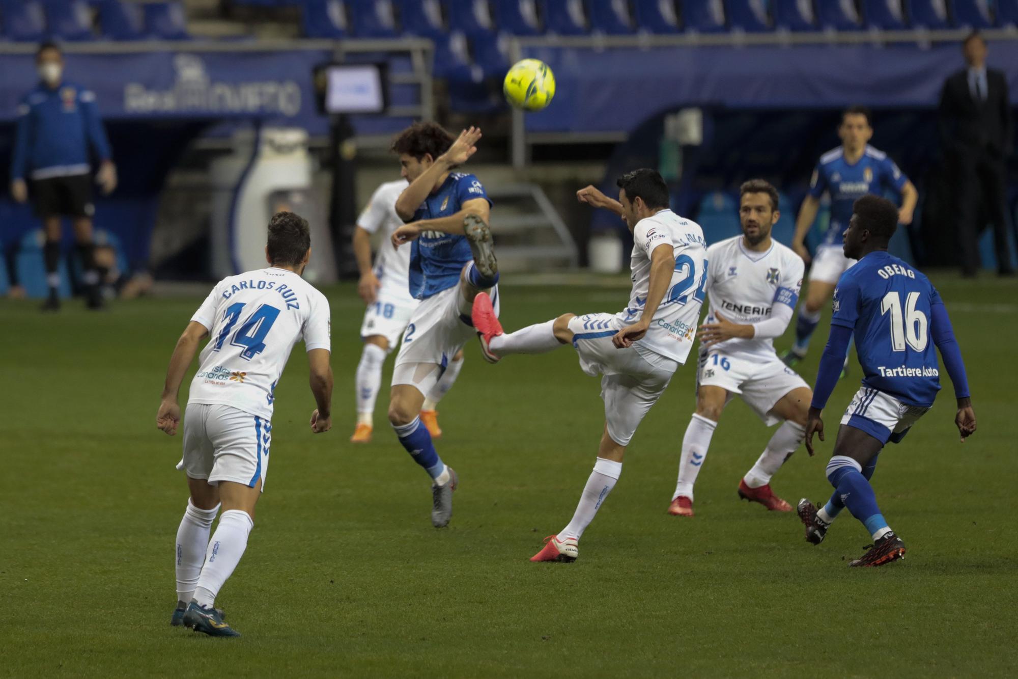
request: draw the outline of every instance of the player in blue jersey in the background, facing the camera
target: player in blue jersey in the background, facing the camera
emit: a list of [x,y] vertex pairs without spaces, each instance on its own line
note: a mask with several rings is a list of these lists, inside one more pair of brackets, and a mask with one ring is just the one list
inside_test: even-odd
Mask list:
[[[852,203],[866,196],[880,196],[892,191],[901,197],[898,221],[912,222],[912,213],[919,194],[915,187],[902,174],[894,161],[883,151],[869,146],[873,136],[869,109],[852,106],[841,116],[838,127],[841,146],[821,156],[809,182],[809,194],[799,208],[795,222],[795,237],[792,250],[808,264],[809,285],[806,289],[799,316],[795,324],[795,345],[782,359],[788,366],[794,366],[806,355],[809,337],[821,320],[821,309],[831,299],[838,279],[855,260],[846,257],[841,249],[841,237],[848,228],[852,217]],[[806,250],[805,238],[816,219],[816,212],[824,194],[831,197],[831,223],[824,242],[816,247],[812,258]]]

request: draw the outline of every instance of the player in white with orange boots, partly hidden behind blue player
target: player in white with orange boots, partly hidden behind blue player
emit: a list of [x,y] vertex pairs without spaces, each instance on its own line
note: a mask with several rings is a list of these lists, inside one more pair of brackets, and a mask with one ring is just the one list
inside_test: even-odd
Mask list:
[[[410,248],[395,249],[391,246],[392,233],[403,225],[396,214],[396,199],[409,184],[406,179],[387,181],[375,190],[367,207],[357,217],[353,230],[353,254],[360,270],[357,293],[367,305],[360,324],[360,338],[364,348],[357,363],[356,398],[357,424],[350,441],[366,443],[375,428],[375,403],[382,387],[382,365],[386,357],[406,330],[419,300],[410,295]],[[372,264],[372,234],[381,230],[382,240]],[[463,352],[449,361],[449,365],[435,386],[428,393],[420,410],[420,421],[433,438],[442,435],[436,407],[463,368]]]

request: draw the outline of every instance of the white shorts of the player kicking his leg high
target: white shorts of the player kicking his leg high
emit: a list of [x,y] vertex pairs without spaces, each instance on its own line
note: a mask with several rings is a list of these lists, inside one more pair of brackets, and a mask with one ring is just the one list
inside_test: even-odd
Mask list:
[[628,446],[636,427],[665,393],[678,361],[659,356],[655,364],[635,348],[616,349],[612,335],[622,323],[613,314],[586,314],[569,321],[573,347],[583,372],[601,378],[608,435],[619,446]]

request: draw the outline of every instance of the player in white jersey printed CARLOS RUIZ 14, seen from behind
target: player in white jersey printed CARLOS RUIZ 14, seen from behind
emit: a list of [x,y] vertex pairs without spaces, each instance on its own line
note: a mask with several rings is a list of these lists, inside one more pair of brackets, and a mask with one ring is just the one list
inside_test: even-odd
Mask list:
[[214,604],[254,526],[269,468],[274,393],[301,338],[318,405],[312,431],[332,426],[329,301],[300,277],[312,254],[307,222],[292,212],[273,216],[265,252],[269,268],[224,278],[191,317],[170,358],[156,415],[156,426],[174,435],[180,383],[199,343],[210,337],[191,380],[177,465],[187,474],[190,499],[177,529],[177,608],[170,623],[212,636],[239,636]]

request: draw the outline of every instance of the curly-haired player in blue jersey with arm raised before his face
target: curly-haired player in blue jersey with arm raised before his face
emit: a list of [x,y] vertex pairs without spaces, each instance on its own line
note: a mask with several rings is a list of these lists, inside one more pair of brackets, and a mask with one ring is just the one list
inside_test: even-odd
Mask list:
[[454,142],[434,122],[417,122],[392,145],[410,182],[396,200],[396,213],[408,223],[393,231],[392,244],[411,248],[409,292],[420,304],[396,356],[389,422],[399,442],[432,478],[436,528],[449,524],[458,478],[435,452],[420,408],[450,361],[473,336],[473,298],[491,291],[498,300],[498,263],[488,227],[492,203],[477,177],[453,171],[474,154],[479,139],[480,130],[474,127]]

